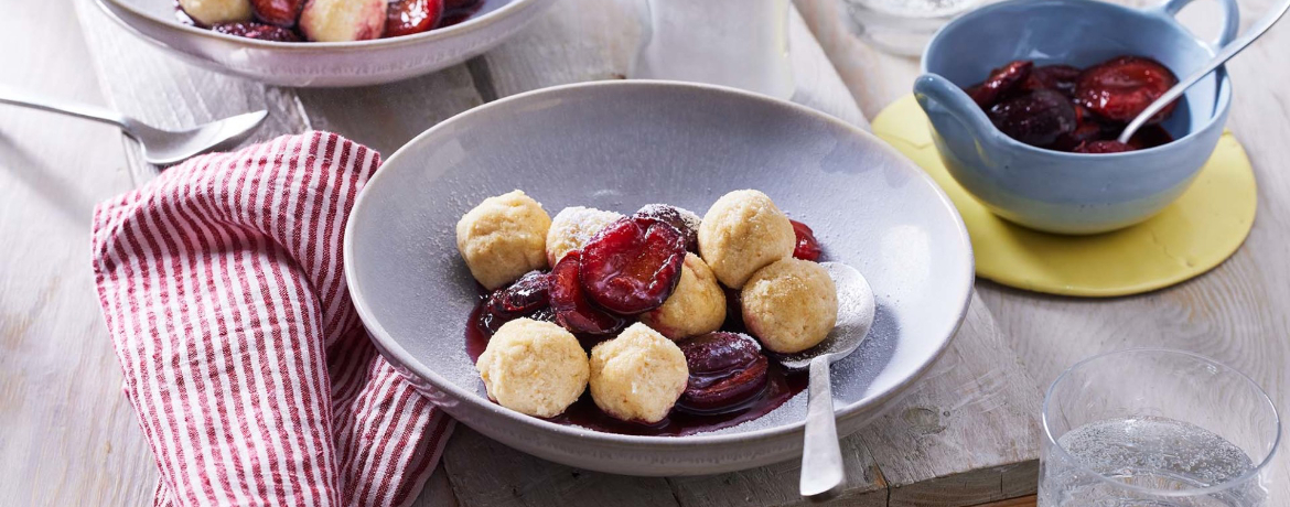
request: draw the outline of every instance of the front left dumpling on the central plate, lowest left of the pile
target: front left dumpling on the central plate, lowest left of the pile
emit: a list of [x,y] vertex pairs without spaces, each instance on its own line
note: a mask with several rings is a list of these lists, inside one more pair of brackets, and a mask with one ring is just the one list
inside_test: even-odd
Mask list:
[[587,352],[564,328],[531,319],[502,325],[475,368],[488,397],[535,417],[556,417],[587,388]]

